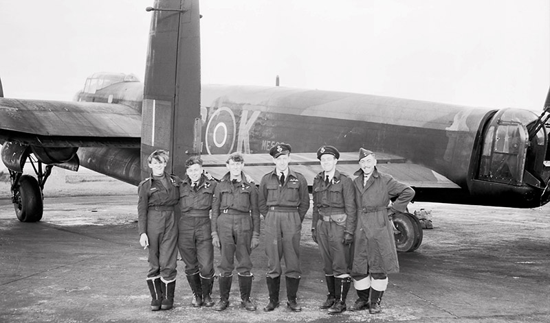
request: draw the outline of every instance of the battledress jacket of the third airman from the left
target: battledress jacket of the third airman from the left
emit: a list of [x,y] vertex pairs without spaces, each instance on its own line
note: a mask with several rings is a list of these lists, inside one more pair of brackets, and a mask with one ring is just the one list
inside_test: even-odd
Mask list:
[[217,219],[225,209],[250,212],[252,230],[260,233],[260,210],[258,207],[258,189],[256,184],[246,180],[241,172],[241,182],[233,184],[228,172],[214,189],[216,200],[212,204],[212,232],[217,232]]

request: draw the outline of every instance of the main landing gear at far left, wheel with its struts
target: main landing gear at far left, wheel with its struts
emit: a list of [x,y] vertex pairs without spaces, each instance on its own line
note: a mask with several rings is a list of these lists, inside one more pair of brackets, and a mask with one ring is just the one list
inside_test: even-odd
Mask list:
[[19,221],[38,222],[42,219],[44,211],[42,190],[53,166],[46,165],[43,169],[43,163],[40,160],[36,160],[31,155],[28,159],[38,179],[10,170],[12,202]]

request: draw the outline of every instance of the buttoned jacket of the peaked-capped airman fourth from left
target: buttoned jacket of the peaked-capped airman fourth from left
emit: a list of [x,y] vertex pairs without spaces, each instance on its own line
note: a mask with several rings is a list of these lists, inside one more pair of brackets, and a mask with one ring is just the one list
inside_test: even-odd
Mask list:
[[305,177],[289,168],[285,184],[279,184],[276,169],[263,176],[259,189],[260,213],[267,215],[270,206],[297,207],[300,219],[309,209],[309,191]]

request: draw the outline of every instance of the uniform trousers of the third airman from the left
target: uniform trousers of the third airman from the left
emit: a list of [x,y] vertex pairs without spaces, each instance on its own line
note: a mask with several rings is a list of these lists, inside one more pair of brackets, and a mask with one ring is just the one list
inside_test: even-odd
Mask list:
[[250,276],[250,242],[252,241],[252,217],[250,214],[221,214],[218,217],[218,236],[221,244],[221,261],[218,270],[221,276],[231,276],[236,258],[236,272]]

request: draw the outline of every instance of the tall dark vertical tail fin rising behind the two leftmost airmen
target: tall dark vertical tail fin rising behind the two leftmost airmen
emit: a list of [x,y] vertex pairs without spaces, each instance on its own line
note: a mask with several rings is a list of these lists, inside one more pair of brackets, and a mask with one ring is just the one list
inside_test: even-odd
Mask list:
[[[185,160],[199,153],[199,0],[155,0],[144,80],[142,178],[155,149],[170,153],[166,171],[185,174]],[[198,134],[198,139],[197,139]]]

